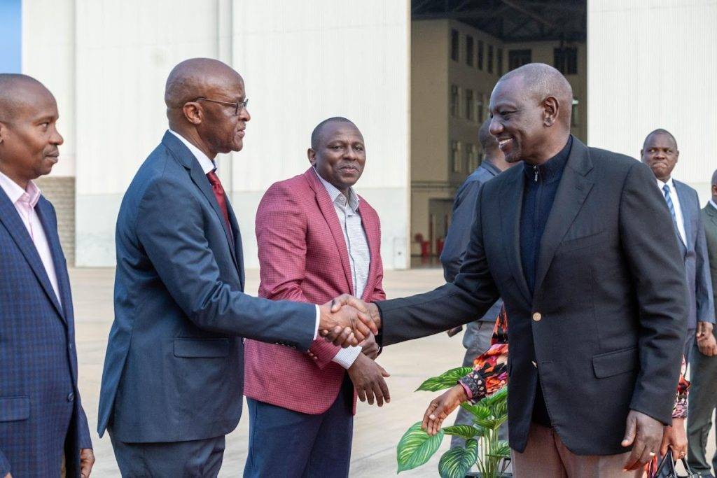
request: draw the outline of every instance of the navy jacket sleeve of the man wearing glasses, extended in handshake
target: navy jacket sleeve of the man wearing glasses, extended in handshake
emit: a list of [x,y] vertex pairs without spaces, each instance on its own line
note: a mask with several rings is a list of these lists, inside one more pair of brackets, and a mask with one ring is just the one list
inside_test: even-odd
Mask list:
[[251,297],[223,282],[205,235],[206,218],[184,183],[162,178],[148,186],[136,230],[159,278],[194,325],[307,350],[314,305]]

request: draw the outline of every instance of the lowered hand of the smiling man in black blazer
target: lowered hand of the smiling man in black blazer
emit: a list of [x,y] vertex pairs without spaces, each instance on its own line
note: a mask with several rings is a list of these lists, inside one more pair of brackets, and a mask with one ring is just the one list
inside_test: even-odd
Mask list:
[[649,415],[640,411],[630,410],[627,414],[625,438],[622,446],[632,446],[632,453],[625,462],[625,471],[644,467],[655,457],[663,439],[665,426]]

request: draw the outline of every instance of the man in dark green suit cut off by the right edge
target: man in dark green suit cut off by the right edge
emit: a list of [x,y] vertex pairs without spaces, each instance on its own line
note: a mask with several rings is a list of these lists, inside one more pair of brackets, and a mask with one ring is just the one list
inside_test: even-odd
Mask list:
[[[712,199],[702,209],[702,222],[714,284],[717,281],[717,171],[712,175]],[[712,414],[717,406],[717,340],[714,332],[698,342],[701,353],[693,353],[692,356],[692,387],[687,415],[687,459],[693,471],[703,477],[714,476],[705,456]],[[712,458],[712,467],[717,469],[717,454]]]

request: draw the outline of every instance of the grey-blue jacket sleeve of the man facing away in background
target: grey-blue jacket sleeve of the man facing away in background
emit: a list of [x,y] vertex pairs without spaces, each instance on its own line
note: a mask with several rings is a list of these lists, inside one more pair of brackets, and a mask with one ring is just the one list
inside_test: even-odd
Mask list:
[[470,241],[470,226],[475,218],[475,206],[480,186],[482,186],[480,181],[463,183],[455,195],[451,223],[441,253],[443,277],[446,282],[453,282],[460,270],[460,264],[463,262],[465,249]]

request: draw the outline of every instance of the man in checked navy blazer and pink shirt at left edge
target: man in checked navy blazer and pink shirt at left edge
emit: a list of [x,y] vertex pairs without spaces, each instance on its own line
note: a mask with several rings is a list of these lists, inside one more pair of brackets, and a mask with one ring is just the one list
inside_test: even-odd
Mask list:
[[75,320],[57,217],[34,179],[57,163],[57,103],[0,74],[0,477],[89,477]]

